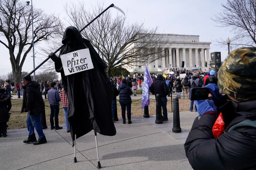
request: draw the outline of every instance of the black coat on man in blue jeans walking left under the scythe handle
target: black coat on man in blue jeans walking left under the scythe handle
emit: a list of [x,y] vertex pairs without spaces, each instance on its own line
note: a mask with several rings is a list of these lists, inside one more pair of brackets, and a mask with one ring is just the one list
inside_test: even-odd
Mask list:
[[44,100],[39,90],[39,84],[31,81],[23,86],[23,89],[24,94],[20,113],[30,110],[30,115],[45,114]]

